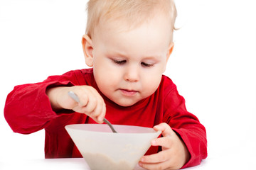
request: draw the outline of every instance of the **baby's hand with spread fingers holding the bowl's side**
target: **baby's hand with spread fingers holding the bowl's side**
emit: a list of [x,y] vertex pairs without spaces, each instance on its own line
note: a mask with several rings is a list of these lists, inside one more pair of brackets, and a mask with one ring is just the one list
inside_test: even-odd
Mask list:
[[186,145],[166,123],[154,126],[154,130],[161,130],[164,137],[152,140],[151,145],[161,146],[162,151],[143,156],[139,165],[144,169],[180,169],[190,159]]

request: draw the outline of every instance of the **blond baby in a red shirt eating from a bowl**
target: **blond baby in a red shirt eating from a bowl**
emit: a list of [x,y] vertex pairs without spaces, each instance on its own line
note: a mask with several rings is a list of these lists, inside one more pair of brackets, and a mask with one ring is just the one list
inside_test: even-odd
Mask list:
[[45,129],[46,158],[81,157],[65,125],[107,118],[112,124],[162,131],[139,161],[145,169],[200,164],[207,157],[206,129],[162,75],[174,49],[174,1],[90,0],[87,11],[82,48],[92,68],[16,86],[4,109],[12,130],[29,134]]

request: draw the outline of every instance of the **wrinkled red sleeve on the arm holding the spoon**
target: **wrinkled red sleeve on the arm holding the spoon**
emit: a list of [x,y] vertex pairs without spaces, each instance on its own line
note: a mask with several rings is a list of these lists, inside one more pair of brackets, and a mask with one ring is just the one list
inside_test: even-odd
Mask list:
[[55,113],[51,106],[46,89],[49,86],[73,86],[77,84],[75,72],[62,76],[48,77],[36,84],[15,86],[6,98],[4,117],[14,132],[29,134],[45,128],[50,120],[61,114]]

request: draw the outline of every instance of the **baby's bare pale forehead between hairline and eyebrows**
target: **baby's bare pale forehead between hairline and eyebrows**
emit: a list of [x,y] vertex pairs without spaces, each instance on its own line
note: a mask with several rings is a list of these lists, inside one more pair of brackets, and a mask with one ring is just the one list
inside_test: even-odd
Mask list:
[[97,26],[92,42],[105,51],[118,49],[122,52],[139,47],[141,53],[151,54],[162,47],[167,48],[171,42],[171,26],[164,20],[164,16],[154,17],[152,21],[132,28],[129,28],[127,23],[117,25],[113,21],[104,21]]

